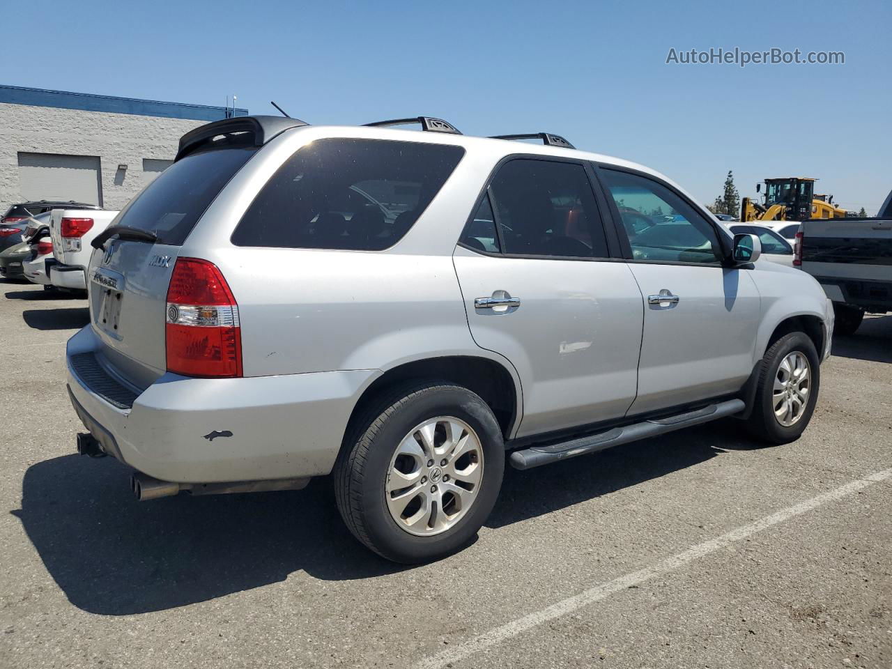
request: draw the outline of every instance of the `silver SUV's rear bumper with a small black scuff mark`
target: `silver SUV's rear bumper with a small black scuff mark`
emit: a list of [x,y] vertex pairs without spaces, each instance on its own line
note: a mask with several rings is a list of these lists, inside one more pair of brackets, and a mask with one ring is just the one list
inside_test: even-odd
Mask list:
[[[100,349],[91,326],[68,343],[68,386],[78,417],[110,455],[177,483],[330,473],[359,394],[379,373],[232,379],[168,373],[134,392],[105,368]],[[85,364],[88,354],[95,361]]]

